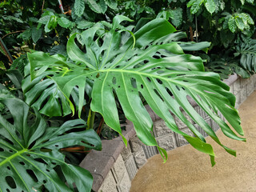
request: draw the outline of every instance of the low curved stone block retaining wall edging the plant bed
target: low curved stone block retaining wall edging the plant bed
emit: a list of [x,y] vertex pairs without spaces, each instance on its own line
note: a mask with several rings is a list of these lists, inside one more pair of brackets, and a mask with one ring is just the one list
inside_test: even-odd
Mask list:
[[[230,86],[236,100],[236,108],[246,100],[246,98],[256,89],[256,75],[248,79],[238,78],[236,74],[231,75],[229,79],[224,80]],[[200,109],[196,103],[192,103],[194,109],[205,119],[213,128],[218,130],[218,124],[214,122],[208,114]],[[174,133],[165,122],[160,119],[147,106],[150,117],[154,121],[154,136],[158,145],[166,150],[173,150],[178,146],[187,144],[186,139],[181,135]],[[188,115],[183,112],[185,117]],[[221,116],[222,119],[224,119]],[[190,129],[178,118],[174,118],[179,129],[186,134],[193,135]],[[191,123],[194,123],[188,118]],[[194,125],[199,132],[206,137],[207,134],[198,125]],[[135,177],[142,166],[147,162],[147,158],[158,154],[155,146],[145,146],[136,136],[131,122],[126,125],[126,131],[123,132],[128,142],[125,147],[122,138],[102,141],[102,151],[91,151],[81,162],[80,166],[89,170],[94,177],[93,190],[99,192],[128,192],[130,190],[131,180]]]

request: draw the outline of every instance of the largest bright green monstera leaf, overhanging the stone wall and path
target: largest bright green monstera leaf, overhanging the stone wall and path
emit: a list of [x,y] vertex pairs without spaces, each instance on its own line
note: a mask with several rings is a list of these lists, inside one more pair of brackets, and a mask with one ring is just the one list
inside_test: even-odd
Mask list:
[[[79,110],[82,109],[86,79],[91,79],[94,81],[91,109],[102,114],[106,124],[122,134],[115,103],[115,99],[118,99],[126,118],[134,123],[138,138],[146,145],[157,146],[164,158],[166,151],[158,146],[154,138],[153,122],[142,104],[142,98],[171,130],[182,134],[197,150],[210,154],[213,165],[212,146],[185,118],[182,110],[215,142],[223,146],[222,142],[191,106],[189,97],[218,123],[226,136],[245,141],[218,115],[223,114],[234,130],[243,134],[238,111],[234,109],[234,95],[220,81],[219,75],[204,72],[202,59],[184,54],[178,43],[158,43],[160,38],[174,33],[174,27],[158,18],[142,26],[130,38],[123,38],[122,34],[126,31],[116,30],[115,26],[125,19],[122,16],[115,17],[112,29],[100,38],[97,38],[96,32],[101,29],[84,31],[81,34],[86,47],[84,51],[75,43],[76,36],[71,36],[67,43],[67,53],[76,64],[62,62],[42,52],[29,54],[31,78],[48,71],[66,98],[70,98],[71,90],[77,87],[81,100]],[[180,118],[195,137],[179,130],[172,114]],[[234,150],[223,147],[235,155]]]

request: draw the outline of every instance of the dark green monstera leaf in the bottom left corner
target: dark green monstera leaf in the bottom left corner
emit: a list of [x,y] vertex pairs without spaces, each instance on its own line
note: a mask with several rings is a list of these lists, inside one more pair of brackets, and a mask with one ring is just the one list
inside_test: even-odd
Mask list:
[[[25,102],[5,97],[0,102],[12,115],[10,120],[0,115],[0,191],[74,191],[74,184],[78,191],[90,191],[90,172],[67,164],[59,149],[80,145],[100,150],[94,130],[78,131],[85,126],[80,119],[47,127],[37,111],[31,124]],[[66,133],[69,130],[77,131]]]

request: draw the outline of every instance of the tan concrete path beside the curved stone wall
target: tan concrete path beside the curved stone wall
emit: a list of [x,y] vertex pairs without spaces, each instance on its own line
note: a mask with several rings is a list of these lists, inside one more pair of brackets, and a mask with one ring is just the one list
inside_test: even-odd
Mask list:
[[216,165],[211,167],[208,155],[190,145],[182,146],[168,152],[165,164],[160,155],[148,159],[135,176],[130,192],[256,191],[255,91],[239,107],[239,114],[247,142],[234,141],[221,130],[217,132],[224,145],[237,150],[236,158],[207,138],[216,154]]

